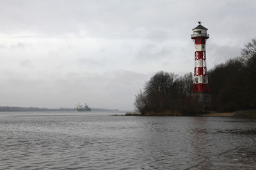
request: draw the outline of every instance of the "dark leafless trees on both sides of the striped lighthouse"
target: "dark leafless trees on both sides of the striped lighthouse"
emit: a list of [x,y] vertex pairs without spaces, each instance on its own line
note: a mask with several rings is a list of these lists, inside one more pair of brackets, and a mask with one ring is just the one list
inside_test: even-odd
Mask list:
[[[256,108],[256,39],[242,48],[241,56],[208,71],[211,110],[237,111]],[[193,74],[178,76],[159,71],[135,96],[142,115],[194,115],[200,103],[192,95]]]

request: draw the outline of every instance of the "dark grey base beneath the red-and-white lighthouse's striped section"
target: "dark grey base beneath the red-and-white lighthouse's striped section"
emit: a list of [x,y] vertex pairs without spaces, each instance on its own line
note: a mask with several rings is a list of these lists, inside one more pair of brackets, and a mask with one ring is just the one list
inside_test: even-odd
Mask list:
[[192,95],[200,104],[200,111],[204,113],[210,112],[211,94],[210,92],[193,92]]

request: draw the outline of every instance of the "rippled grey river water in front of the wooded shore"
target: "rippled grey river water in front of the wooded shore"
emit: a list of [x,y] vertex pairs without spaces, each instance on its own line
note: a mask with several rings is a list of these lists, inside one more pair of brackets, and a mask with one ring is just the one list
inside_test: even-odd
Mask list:
[[112,114],[0,113],[0,169],[256,169],[256,120]]

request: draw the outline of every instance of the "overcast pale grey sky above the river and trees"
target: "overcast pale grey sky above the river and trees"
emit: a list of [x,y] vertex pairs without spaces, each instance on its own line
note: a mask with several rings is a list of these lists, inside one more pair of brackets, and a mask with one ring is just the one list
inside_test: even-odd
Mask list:
[[158,71],[193,72],[199,20],[209,70],[256,38],[256,1],[1,0],[0,106],[133,110]]

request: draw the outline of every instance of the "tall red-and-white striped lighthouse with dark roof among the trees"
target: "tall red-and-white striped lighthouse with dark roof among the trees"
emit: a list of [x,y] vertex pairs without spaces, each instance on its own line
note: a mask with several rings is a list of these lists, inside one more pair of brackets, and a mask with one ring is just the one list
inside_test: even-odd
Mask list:
[[201,23],[198,22],[199,25],[193,29],[193,34],[191,34],[191,39],[195,43],[195,69],[192,92],[202,104],[202,111],[207,111],[209,110],[211,95],[207,78],[205,42],[209,38],[209,34],[207,34],[208,29]]

